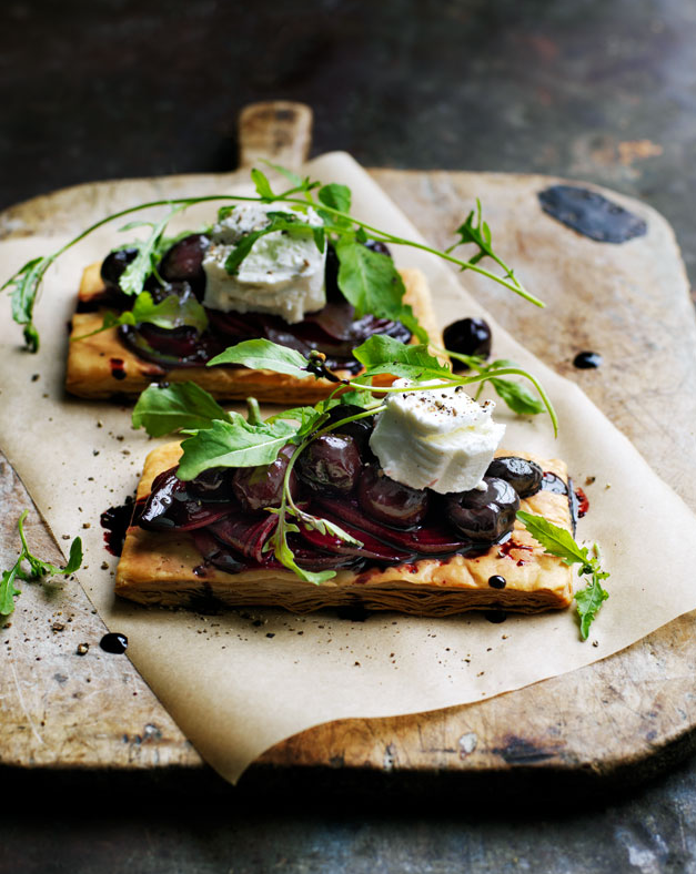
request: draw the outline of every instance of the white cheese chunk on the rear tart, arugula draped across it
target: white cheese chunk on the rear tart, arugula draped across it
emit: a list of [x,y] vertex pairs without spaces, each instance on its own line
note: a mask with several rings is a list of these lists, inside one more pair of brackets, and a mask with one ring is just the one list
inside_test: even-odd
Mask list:
[[203,260],[203,305],[223,313],[270,313],[290,323],[302,322],[305,313],[326,304],[326,247],[321,253],[313,237],[273,231],[259,237],[235,276],[230,276],[224,268],[228,256],[245,234],[270,224],[269,212],[292,212],[307,224],[322,224],[311,207],[300,212],[284,203],[235,206],[211,233],[212,243]]

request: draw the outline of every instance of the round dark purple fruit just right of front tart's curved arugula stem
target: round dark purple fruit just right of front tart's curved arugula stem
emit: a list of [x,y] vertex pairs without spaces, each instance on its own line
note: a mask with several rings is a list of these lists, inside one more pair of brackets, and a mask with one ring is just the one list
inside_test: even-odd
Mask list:
[[302,453],[297,467],[301,479],[313,490],[347,495],[360,474],[360,451],[347,434],[324,434]]

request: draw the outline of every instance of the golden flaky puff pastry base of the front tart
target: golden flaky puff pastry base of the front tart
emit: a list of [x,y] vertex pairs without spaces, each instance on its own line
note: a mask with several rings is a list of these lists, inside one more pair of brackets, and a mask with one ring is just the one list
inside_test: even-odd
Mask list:
[[[148,496],[154,477],[173,467],[180,455],[179,444],[167,444],[150,453],[138,498]],[[535,460],[567,482],[563,461],[541,460],[524,453],[514,455]],[[565,495],[542,490],[523,500],[522,509],[572,530]],[[505,578],[504,589],[488,585],[493,576]],[[515,524],[511,541],[492,546],[476,557],[422,559],[360,572],[342,569],[321,586],[303,582],[291,571],[226,573],[204,566],[185,531],[152,532],[132,526],[117,570],[115,592],[145,604],[195,608],[202,601],[213,601],[232,607],[276,607],[294,613],[360,606],[431,617],[493,608],[536,613],[563,609],[573,600],[571,568],[546,555],[520,522]]]

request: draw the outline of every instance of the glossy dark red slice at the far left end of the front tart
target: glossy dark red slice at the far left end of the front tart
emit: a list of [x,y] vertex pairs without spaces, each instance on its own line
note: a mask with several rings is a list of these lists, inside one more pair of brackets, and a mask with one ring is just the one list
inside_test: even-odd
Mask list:
[[152,491],[138,508],[133,524],[151,531],[192,531],[222,519],[234,510],[233,504],[203,504],[189,495],[176,468],[164,470],[152,482]]

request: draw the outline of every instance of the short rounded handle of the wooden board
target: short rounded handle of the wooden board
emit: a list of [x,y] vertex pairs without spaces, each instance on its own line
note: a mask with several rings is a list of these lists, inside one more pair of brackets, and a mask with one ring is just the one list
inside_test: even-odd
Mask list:
[[256,166],[261,160],[297,170],[310,154],[312,110],[305,103],[271,100],[250,103],[239,118],[239,165]]

